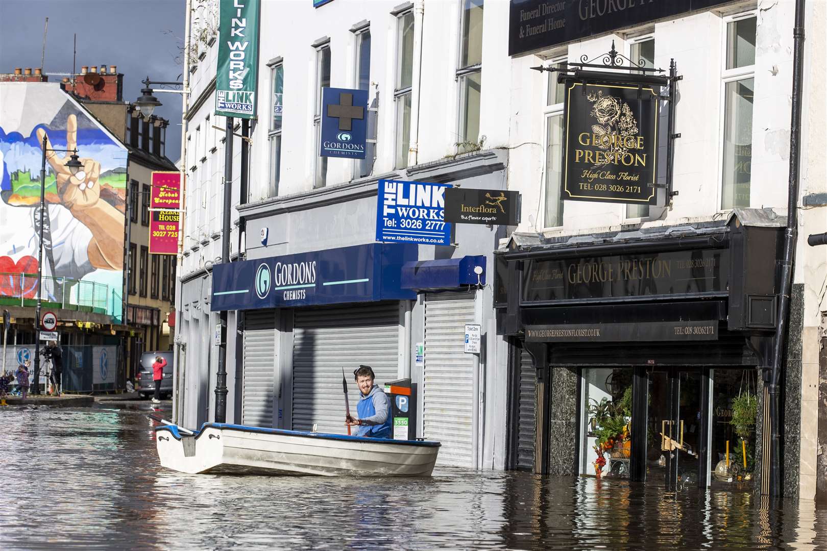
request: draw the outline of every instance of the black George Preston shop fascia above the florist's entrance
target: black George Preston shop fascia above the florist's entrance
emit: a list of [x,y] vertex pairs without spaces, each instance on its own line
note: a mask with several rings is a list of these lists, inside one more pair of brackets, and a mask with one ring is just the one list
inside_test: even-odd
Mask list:
[[[553,407],[556,368],[766,365],[782,225],[771,210],[735,209],[727,219],[682,226],[512,235],[495,254],[498,332],[512,358],[530,354],[537,411]],[[538,418],[538,433],[548,432],[543,425]],[[538,473],[555,473],[544,457],[548,438],[536,441]]]

